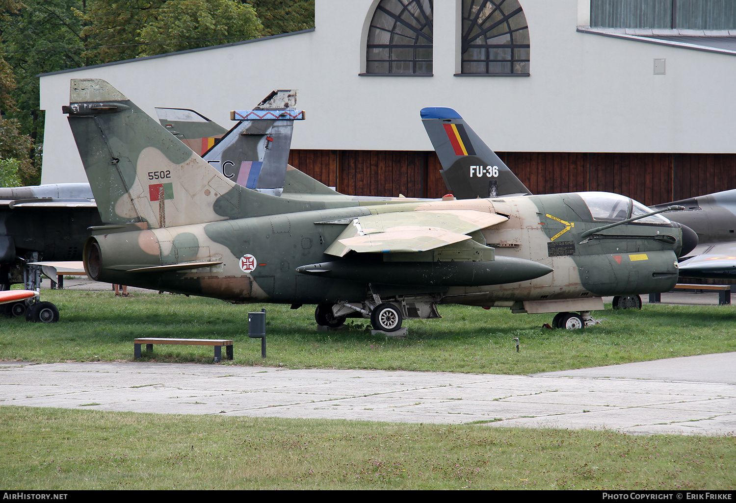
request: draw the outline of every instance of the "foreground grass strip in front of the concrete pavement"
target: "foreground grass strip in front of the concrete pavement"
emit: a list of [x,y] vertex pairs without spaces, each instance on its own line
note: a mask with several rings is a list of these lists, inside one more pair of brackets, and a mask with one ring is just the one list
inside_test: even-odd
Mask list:
[[0,487],[733,490],[736,439],[0,407]]

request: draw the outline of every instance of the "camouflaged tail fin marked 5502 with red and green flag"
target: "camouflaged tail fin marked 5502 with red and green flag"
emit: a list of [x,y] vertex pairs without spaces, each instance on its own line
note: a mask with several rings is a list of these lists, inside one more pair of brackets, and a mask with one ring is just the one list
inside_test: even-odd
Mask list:
[[227,179],[104,80],[72,79],[63,113],[107,224],[156,229],[298,210]]

